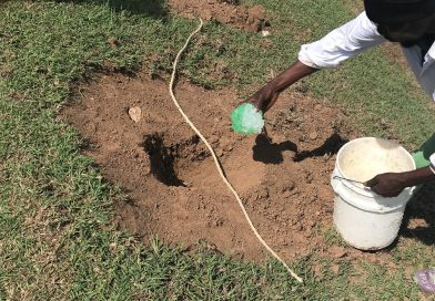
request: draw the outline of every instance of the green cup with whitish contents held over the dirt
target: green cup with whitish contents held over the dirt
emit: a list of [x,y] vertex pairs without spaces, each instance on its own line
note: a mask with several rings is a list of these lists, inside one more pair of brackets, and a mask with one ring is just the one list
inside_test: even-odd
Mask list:
[[251,103],[243,103],[231,113],[232,128],[241,134],[260,134],[264,127],[263,112]]

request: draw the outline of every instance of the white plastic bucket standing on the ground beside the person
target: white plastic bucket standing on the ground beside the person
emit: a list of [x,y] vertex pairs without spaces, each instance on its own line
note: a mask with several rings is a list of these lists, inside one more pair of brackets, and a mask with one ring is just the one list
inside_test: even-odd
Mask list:
[[385,198],[362,184],[334,176],[364,183],[378,174],[413,169],[411,154],[386,139],[358,138],[338,150],[331,178],[335,191],[334,225],[347,243],[361,250],[390,246],[397,236],[414,187],[405,188],[397,197]]

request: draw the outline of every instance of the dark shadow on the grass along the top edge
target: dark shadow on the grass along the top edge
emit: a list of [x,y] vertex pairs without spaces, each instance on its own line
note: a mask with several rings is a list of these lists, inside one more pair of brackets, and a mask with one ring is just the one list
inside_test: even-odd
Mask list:
[[57,0],[57,2],[109,6],[115,11],[129,11],[155,19],[165,19],[168,15],[166,0]]

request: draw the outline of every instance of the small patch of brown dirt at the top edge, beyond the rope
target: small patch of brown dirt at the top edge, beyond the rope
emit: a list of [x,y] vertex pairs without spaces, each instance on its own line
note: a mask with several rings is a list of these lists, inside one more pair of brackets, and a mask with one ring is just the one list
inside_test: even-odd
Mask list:
[[266,11],[262,6],[247,7],[231,0],[169,0],[172,11],[186,18],[201,17],[205,21],[218,21],[239,29],[257,32],[270,28]]

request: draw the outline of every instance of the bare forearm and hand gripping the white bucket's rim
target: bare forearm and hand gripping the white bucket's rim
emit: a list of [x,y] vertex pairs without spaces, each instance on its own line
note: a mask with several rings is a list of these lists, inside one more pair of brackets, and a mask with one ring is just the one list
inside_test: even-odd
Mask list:
[[435,174],[431,167],[418,168],[405,173],[381,174],[367,180],[365,186],[383,197],[396,197],[406,187],[425,184],[435,180]]

